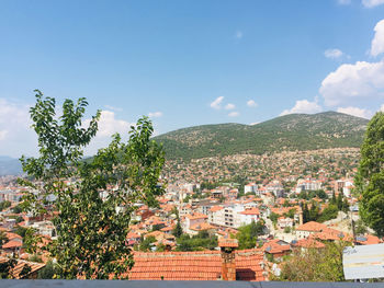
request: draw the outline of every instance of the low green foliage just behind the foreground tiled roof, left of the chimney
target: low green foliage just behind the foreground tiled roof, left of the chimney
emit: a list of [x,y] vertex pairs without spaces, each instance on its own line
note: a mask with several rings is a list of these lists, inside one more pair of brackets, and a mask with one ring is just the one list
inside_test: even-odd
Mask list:
[[210,235],[207,231],[200,231],[196,235],[182,234],[177,239],[177,251],[201,251],[217,247],[217,237]]

